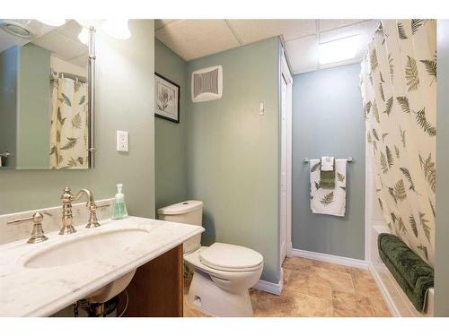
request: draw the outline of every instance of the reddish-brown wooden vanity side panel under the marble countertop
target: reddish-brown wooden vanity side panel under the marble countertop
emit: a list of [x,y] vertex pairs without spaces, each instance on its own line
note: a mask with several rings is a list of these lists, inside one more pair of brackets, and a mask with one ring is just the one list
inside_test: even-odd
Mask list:
[[[182,245],[145,263],[136,270],[128,285],[128,317],[182,317]],[[119,294],[118,313],[126,304]]]

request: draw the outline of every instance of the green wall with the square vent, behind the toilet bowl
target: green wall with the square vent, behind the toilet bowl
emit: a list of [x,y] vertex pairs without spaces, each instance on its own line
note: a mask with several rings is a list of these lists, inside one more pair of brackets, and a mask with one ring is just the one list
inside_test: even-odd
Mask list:
[[259,251],[270,282],[279,280],[279,47],[267,39],[188,63],[188,73],[223,66],[223,97],[188,104],[189,197],[204,202],[202,244]]

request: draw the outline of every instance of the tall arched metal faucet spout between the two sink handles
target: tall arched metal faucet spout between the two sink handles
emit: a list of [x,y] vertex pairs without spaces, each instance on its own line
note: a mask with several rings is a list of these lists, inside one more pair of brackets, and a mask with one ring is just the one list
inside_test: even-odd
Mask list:
[[89,189],[81,189],[75,196],[68,186],[64,189],[61,195],[62,200],[62,228],[59,230],[59,235],[66,235],[75,233],[76,230],[73,226],[74,217],[72,215],[72,202],[78,201],[81,196],[85,194],[87,197],[86,207],[90,212],[89,221],[86,228],[97,228],[100,223],[97,220],[97,205],[93,201],[93,194]]

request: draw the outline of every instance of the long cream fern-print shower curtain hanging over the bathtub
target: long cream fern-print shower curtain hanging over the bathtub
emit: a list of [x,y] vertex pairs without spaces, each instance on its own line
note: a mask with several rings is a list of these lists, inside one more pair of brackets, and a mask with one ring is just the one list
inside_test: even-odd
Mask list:
[[366,139],[391,232],[434,264],[436,22],[385,20],[361,66]]

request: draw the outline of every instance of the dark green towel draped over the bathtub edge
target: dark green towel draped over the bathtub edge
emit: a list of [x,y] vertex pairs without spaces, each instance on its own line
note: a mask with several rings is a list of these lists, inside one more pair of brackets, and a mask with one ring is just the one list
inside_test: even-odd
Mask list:
[[379,255],[410,302],[423,313],[427,290],[434,287],[434,269],[413,252],[401,238],[381,233],[377,238]]

